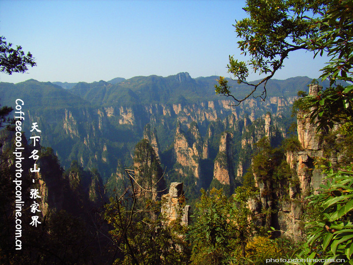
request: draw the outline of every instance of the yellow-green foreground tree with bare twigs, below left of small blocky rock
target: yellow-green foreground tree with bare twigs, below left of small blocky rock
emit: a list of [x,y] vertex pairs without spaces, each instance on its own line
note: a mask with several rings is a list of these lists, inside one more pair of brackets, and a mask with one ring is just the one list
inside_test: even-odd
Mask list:
[[126,170],[126,176],[130,185],[120,197],[110,199],[104,212],[112,226],[109,233],[117,253],[114,264],[187,264],[188,246],[183,236],[187,228],[180,224],[181,212],[175,221],[168,222],[163,214],[151,215],[151,212],[160,211],[161,201],[147,199],[138,207],[137,201],[141,198],[135,192],[132,171]]

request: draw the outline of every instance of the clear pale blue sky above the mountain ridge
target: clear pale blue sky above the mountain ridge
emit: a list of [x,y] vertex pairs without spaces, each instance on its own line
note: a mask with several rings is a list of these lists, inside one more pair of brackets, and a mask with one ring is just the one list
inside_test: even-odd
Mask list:
[[[0,81],[93,82],[116,77],[229,77],[243,0],[0,0],[0,35],[30,51],[37,66]],[[275,76],[318,78],[325,58],[296,52]],[[249,80],[258,79],[251,75]]]

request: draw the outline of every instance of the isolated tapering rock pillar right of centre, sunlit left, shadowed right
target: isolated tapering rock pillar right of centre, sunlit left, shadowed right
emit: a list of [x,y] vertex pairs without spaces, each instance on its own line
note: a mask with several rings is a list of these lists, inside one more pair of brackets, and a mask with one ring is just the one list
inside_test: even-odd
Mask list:
[[221,136],[219,152],[215,159],[213,178],[221,184],[233,185],[234,169],[232,166],[232,136],[224,132]]

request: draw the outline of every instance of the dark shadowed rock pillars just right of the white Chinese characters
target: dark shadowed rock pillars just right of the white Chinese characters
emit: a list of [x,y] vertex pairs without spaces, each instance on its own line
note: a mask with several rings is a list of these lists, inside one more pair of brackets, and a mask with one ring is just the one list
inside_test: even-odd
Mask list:
[[50,212],[65,210],[80,214],[83,208],[98,207],[105,200],[102,182],[97,172],[84,171],[77,163],[64,173],[57,158],[50,151],[37,161],[40,172],[36,172],[32,188],[37,188],[39,209],[43,216]]

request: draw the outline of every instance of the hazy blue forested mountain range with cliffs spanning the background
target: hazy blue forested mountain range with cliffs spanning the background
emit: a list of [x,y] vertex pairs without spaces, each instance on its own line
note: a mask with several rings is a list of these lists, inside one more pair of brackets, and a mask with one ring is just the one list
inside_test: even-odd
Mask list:
[[[169,169],[177,160],[174,151],[173,156],[168,155],[175,143],[177,122],[183,130],[196,123],[201,137],[208,138],[212,145],[208,159],[213,163],[220,135],[229,127],[217,125],[219,122],[245,119],[247,126],[267,112],[288,117],[297,91],[305,90],[311,79],[270,80],[268,86],[274,87],[271,91],[276,94],[269,93],[264,103],[252,99],[238,107],[229,106],[232,102],[228,98],[215,95],[215,82],[216,77],[192,79],[187,73],[179,73],[167,78],[118,79],[115,84],[80,82],[72,89],[63,89],[31,79],[18,84],[0,83],[0,98],[3,105],[13,107],[17,98],[24,100],[26,134],[30,134],[31,123],[38,122],[42,144],[53,148],[65,168],[77,160],[85,168],[97,168],[102,178],[108,179],[132,164],[133,148],[143,138],[147,124],[156,130],[160,153],[166,152],[162,162]],[[244,86],[229,82],[234,91],[245,93]],[[288,127],[289,122],[285,123]]]

